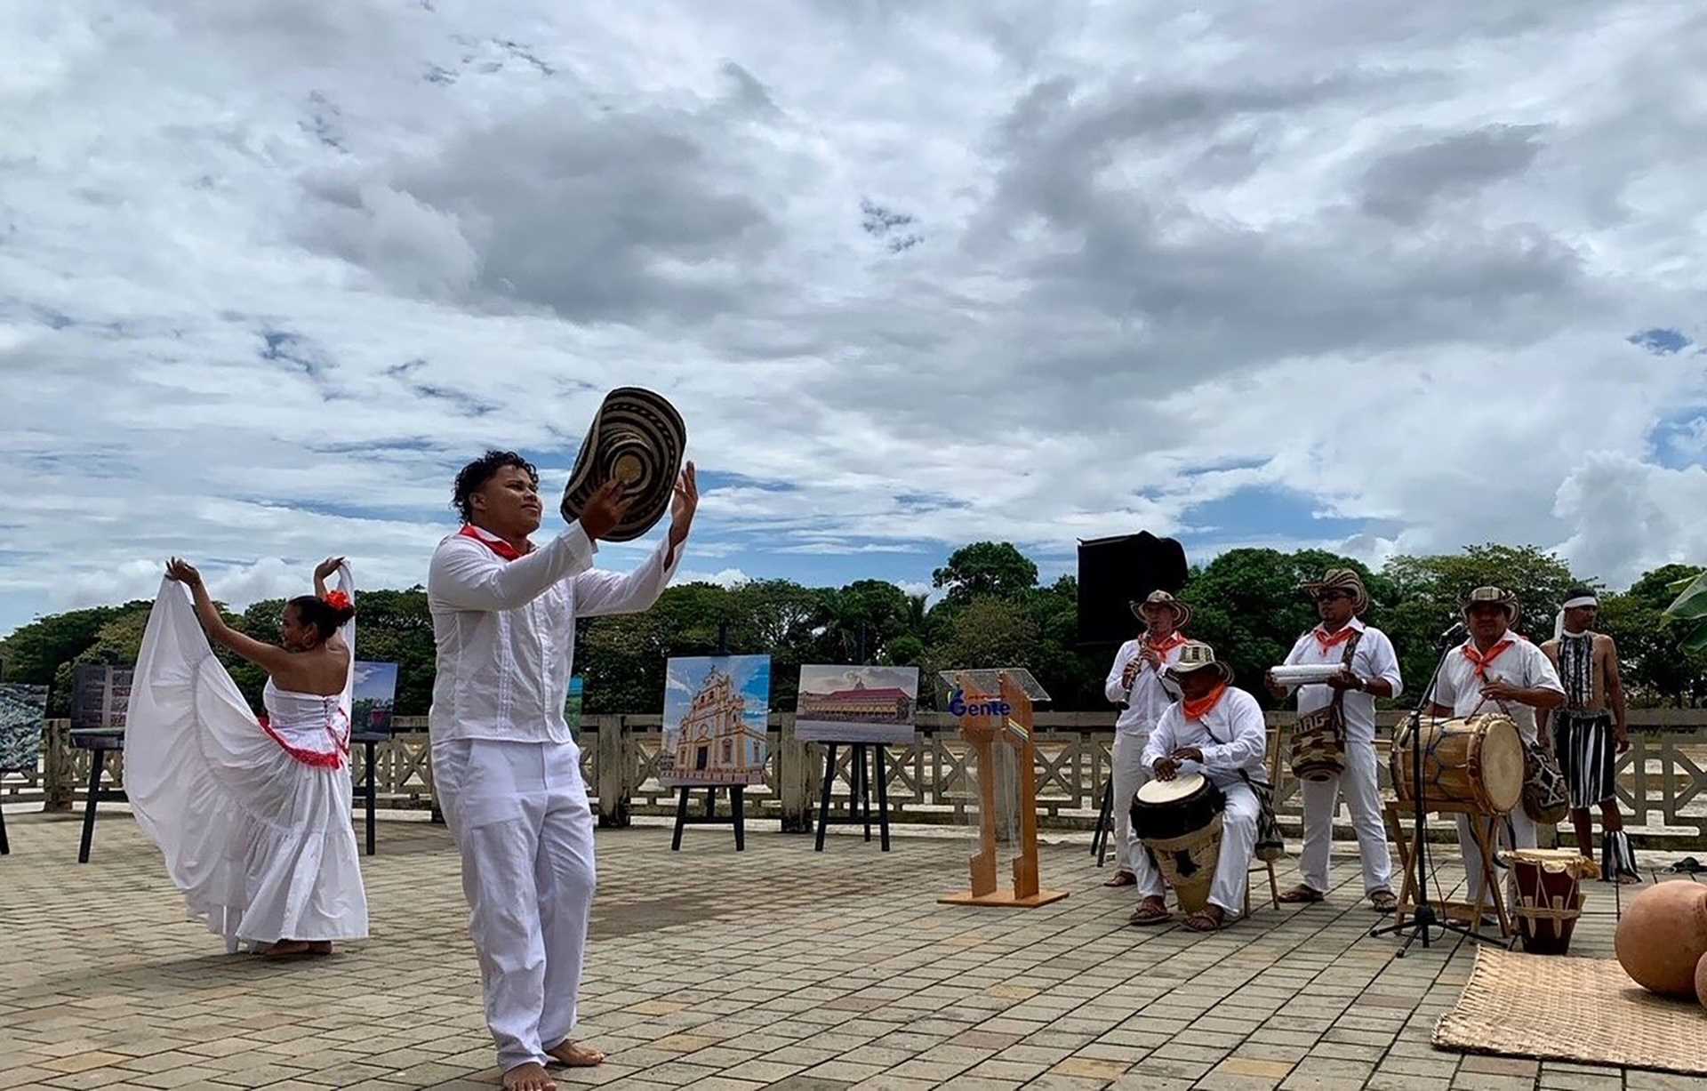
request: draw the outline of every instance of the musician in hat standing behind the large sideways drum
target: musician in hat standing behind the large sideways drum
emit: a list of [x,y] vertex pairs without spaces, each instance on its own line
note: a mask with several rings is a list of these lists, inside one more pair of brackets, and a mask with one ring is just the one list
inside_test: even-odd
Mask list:
[[[1536,741],[1536,709],[1565,703],[1558,673],[1535,644],[1512,632],[1518,598],[1499,587],[1477,587],[1465,599],[1470,639],[1448,652],[1434,683],[1434,715],[1465,717],[1504,712],[1526,744]],[[1497,830],[1502,847],[1535,849],[1535,821],[1516,806]],[[1482,849],[1470,835],[1470,818],[1458,816],[1458,847],[1465,857],[1470,901],[1482,901]]]

